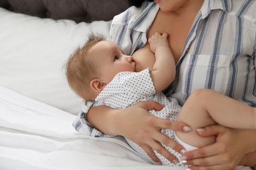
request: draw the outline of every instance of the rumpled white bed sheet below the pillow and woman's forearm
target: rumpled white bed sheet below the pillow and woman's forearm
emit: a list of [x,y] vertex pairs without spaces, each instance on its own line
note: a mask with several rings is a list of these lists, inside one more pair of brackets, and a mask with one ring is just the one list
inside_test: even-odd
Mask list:
[[73,114],[3,86],[0,94],[1,170],[184,169],[150,165],[122,137],[78,134]]

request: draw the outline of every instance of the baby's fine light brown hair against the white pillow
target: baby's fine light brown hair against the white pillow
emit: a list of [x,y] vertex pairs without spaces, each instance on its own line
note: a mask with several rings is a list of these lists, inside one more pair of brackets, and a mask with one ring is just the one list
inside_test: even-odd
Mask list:
[[93,100],[93,90],[90,82],[98,75],[95,64],[91,61],[87,52],[96,43],[104,40],[104,35],[90,33],[84,46],[77,48],[65,64],[70,88],[86,101]]

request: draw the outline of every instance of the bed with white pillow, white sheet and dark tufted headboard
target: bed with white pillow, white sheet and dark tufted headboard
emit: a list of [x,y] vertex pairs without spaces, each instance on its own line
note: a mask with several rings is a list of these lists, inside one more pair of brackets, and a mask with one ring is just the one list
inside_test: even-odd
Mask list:
[[[121,0],[0,0],[0,169],[184,169],[150,165],[122,137],[72,127],[81,99],[63,65],[90,31],[109,37]],[[237,167],[237,169],[250,169]]]

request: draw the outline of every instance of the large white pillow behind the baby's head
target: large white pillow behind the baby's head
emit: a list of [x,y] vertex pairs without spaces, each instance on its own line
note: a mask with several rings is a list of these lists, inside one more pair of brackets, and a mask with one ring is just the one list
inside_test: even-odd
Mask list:
[[81,99],[68,86],[62,66],[87,33],[109,39],[110,23],[76,24],[0,8],[0,85],[77,114]]

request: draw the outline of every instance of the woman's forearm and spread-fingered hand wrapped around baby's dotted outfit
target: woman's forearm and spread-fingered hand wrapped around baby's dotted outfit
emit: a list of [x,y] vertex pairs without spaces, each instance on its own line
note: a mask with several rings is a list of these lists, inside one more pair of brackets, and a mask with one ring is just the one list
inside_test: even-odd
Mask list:
[[[162,128],[177,131],[189,131],[186,124],[163,120],[152,116],[148,110],[161,110],[162,105],[156,101],[141,101],[127,109],[114,110],[108,107],[91,108],[87,113],[87,120],[96,129],[108,135],[122,135],[139,144],[153,161],[160,162],[154,150],[169,161],[177,160],[160,143],[163,143],[177,152],[184,149],[180,144],[163,135]],[[178,160],[177,160],[178,161]]]

